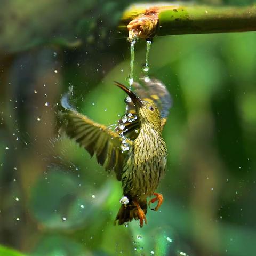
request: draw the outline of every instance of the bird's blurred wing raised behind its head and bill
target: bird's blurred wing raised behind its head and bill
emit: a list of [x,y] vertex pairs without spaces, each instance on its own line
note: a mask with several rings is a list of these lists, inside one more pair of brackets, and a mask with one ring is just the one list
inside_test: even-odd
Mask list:
[[[145,79],[141,79],[141,81],[143,81],[144,86],[137,82],[133,83],[134,92],[142,101],[155,103],[161,113],[163,129],[169,115],[169,109],[172,106],[171,95],[165,85],[157,79],[146,79],[146,81]],[[138,136],[140,124],[133,102],[129,97],[125,99],[125,102],[128,106],[127,111],[125,116],[118,121],[116,132],[122,134],[125,138],[134,140]]]

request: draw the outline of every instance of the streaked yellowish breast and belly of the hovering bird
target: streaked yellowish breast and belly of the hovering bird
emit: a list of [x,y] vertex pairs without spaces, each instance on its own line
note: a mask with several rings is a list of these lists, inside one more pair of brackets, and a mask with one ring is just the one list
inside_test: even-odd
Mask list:
[[157,132],[141,133],[124,166],[123,185],[126,193],[148,197],[157,189],[166,169],[166,146]]

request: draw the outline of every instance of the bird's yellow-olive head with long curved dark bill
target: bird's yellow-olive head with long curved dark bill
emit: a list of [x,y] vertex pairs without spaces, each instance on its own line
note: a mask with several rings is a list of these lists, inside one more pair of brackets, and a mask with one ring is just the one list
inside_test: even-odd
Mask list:
[[153,125],[156,130],[161,131],[161,115],[154,102],[142,101],[134,92],[130,91],[123,84],[118,82],[115,82],[115,84],[125,91],[131,98],[136,107],[140,122],[149,123]]

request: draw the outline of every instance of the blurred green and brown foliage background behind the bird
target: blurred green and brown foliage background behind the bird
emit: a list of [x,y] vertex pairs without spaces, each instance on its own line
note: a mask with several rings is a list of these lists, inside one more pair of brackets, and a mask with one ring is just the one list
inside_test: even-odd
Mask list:
[[[254,255],[256,33],[157,37],[149,76],[173,98],[164,204],[114,226],[121,184],[58,137],[60,98],[105,125],[124,113],[130,49],[115,35],[127,1],[2,1],[0,255]],[[248,5],[253,1],[199,1]],[[135,44],[135,77],[146,43]],[[127,84],[127,83],[126,83]]]

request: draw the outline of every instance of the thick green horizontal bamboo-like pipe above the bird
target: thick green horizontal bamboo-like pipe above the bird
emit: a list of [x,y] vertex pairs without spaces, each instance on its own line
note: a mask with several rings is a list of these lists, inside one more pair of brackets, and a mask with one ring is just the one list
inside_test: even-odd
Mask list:
[[117,37],[127,37],[127,24],[150,9],[158,10],[156,36],[256,31],[256,5],[216,7],[150,4],[131,6],[124,13]]

